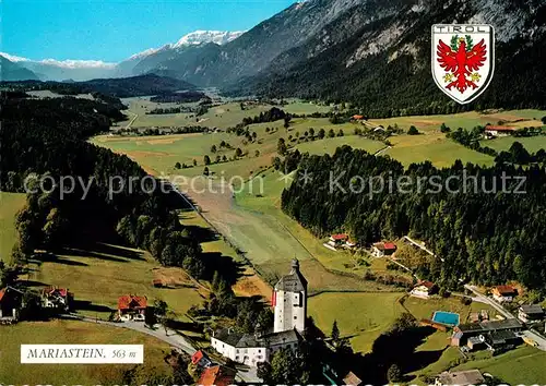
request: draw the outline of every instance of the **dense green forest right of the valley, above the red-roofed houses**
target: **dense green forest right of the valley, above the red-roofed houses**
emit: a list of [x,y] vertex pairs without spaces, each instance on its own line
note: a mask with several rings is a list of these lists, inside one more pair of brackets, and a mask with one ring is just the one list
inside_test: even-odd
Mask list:
[[[416,185],[419,178],[426,178],[424,181],[436,180],[447,186],[448,178],[463,178],[463,170],[468,177],[475,176],[477,184],[470,182],[464,190],[463,184],[452,181],[448,190],[422,180],[424,188]],[[300,178],[304,171],[311,176],[311,182]],[[396,181],[402,176],[413,184],[390,189],[389,179]],[[375,184],[369,194],[366,186],[373,177],[385,179],[384,189]],[[519,177],[526,181],[517,190]],[[360,192],[349,189],[351,184],[359,188],[363,183]],[[444,261],[431,260],[418,274],[444,288],[458,288],[460,280],[484,285],[519,280],[544,292],[545,186],[544,166],[480,168],[470,164],[463,167],[458,161],[444,169],[425,162],[404,170],[399,161],[344,146],[333,156],[305,156],[298,176],[283,192],[282,207],[317,236],[343,230],[360,244],[407,233],[422,239]],[[526,193],[517,193],[520,190]]]

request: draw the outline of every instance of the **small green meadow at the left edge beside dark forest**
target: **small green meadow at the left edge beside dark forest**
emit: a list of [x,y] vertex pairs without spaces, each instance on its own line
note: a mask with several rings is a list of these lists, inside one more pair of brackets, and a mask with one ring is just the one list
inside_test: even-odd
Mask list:
[[11,262],[11,250],[17,239],[15,214],[26,202],[24,193],[0,192],[0,261]]

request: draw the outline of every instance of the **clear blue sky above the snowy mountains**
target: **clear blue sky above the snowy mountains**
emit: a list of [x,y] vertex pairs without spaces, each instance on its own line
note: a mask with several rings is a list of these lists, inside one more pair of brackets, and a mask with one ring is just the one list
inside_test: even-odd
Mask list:
[[0,0],[0,51],[117,62],[195,29],[241,31],[295,0]]

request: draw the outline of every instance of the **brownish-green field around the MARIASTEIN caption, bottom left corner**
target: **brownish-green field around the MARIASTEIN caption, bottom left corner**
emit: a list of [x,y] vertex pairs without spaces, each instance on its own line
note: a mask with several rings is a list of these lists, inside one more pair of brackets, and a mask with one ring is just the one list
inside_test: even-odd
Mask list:
[[[4,385],[115,385],[133,364],[21,364],[24,345],[144,345],[144,373],[169,374],[163,361],[169,346],[130,329],[78,321],[23,322],[2,326],[0,383]],[[10,353],[10,354],[8,354]]]

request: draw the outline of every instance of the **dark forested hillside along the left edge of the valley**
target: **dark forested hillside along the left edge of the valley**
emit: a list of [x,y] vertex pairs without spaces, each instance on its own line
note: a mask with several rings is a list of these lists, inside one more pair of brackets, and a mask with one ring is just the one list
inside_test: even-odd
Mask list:
[[102,101],[3,95],[0,142],[9,145],[1,147],[0,189],[28,193],[16,217],[14,261],[39,258],[35,250],[123,239],[164,265],[212,275],[199,240],[173,212],[181,207],[178,194],[163,193],[127,156],[86,142],[122,117]]

